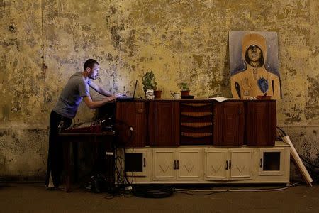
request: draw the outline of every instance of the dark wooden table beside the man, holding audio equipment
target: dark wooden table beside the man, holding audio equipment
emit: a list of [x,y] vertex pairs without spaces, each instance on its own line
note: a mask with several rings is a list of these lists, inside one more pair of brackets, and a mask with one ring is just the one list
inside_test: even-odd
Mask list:
[[[73,161],[74,161],[74,176],[77,178],[77,143],[106,143],[108,153],[113,153],[113,141],[115,132],[101,132],[101,133],[60,133],[59,134],[63,143],[63,155],[65,162],[65,184],[67,192],[70,192],[70,181],[71,181],[71,165],[70,165],[70,145],[72,143],[73,148]],[[112,160],[114,159],[114,153]],[[112,163],[113,165],[113,163]],[[110,168],[109,173],[106,174],[111,181],[114,180],[113,168]]]

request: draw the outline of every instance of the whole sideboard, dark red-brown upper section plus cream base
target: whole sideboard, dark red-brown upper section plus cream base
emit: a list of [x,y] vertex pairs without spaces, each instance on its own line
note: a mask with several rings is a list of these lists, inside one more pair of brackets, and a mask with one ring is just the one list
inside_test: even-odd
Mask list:
[[112,106],[125,146],[117,168],[132,183],[289,185],[289,146],[275,141],[274,100],[136,100],[104,111]]

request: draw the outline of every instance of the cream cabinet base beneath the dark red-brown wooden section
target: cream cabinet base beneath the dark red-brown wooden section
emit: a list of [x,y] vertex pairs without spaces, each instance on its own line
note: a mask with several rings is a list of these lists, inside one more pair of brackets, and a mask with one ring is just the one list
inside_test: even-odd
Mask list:
[[273,147],[179,146],[127,149],[127,153],[132,152],[142,153],[142,165],[136,168],[143,168],[143,172],[127,173],[128,180],[133,181],[131,184],[289,185],[290,150],[281,141],[276,141]]

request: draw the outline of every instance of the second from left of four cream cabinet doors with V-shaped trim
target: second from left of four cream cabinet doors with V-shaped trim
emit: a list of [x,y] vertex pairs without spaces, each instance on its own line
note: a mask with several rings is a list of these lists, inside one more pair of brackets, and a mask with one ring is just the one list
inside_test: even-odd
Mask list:
[[201,149],[181,148],[177,158],[177,178],[187,180],[200,180],[202,178]]

